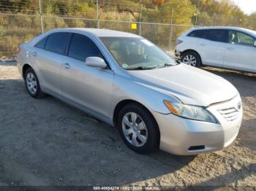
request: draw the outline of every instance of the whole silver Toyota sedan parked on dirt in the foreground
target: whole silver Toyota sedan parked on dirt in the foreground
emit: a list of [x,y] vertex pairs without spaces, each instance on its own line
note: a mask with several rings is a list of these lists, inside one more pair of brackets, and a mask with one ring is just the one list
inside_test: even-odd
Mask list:
[[135,34],[55,29],[21,44],[17,61],[33,98],[53,95],[116,126],[135,152],[215,151],[241,126],[241,98],[230,82],[177,63]]

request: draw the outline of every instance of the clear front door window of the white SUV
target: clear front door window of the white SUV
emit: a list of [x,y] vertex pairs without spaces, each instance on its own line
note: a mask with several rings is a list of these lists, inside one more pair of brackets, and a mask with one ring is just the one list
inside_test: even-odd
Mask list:
[[255,43],[255,39],[252,36],[247,34],[238,32],[238,31],[230,31],[229,32],[229,43],[230,44],[242,44],[246,46],[253,47]]

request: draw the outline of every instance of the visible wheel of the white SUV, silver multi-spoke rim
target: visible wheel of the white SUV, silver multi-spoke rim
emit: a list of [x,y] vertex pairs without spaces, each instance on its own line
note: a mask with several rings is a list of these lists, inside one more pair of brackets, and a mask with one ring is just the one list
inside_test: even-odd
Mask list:
[[198,55],[197,52],[193,52],[193,51],[185,52],[181,56],[181,62],[197,68],[199,68],[202,64],[200,55]]

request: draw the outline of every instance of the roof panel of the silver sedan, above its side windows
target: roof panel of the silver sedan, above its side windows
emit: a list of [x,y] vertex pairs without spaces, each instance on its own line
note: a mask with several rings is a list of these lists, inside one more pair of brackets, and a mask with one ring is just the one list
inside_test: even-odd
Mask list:
[[109,29],[99,29],[99,28],[56,28],[53,29],[49,32],[87,32],[90,34],[93,34],[94,36],[98,36],[98,37],[108,37],[108,36],[112,36],[112,37],[140,37],[136,34],[130,34],[127,32],[123,32],[123,31],[114,31],[114,30],[109,30]]

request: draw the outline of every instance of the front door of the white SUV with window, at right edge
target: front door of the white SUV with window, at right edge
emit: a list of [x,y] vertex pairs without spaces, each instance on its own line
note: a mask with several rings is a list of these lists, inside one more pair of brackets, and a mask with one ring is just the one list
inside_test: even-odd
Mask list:
[[224,67],[256,72],[255,38],[240,31],[229,31]]

